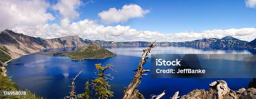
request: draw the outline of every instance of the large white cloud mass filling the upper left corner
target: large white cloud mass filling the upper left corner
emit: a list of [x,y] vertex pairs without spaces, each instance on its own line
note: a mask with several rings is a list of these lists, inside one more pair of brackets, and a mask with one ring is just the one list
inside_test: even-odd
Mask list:
[[17,25],[35,26],[54,20],[46,13],[49,3],[44,0],[1,0],[0,30],[14,28]]

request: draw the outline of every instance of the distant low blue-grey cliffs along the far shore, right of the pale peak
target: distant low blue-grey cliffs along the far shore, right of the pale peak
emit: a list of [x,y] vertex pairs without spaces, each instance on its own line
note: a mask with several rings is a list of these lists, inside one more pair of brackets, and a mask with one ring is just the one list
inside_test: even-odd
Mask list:
[[[90,41],[86,42],[97,43],[103,46],[148,46],[151,42],[145,41],[134,41],[134,42],[113,42],[113,41]],[[251,42],[251,46],[255,46],[255,41]],[[238,47],[238,48],[248,48],[248,42],[242,41],[231,36],[226,36],[224,38],[203,38],[195,41],[185,41],[185,42],[158,42],[158,46],[187,46],[187,47],[197,47],[197,48],[206,48],[206,47]]]

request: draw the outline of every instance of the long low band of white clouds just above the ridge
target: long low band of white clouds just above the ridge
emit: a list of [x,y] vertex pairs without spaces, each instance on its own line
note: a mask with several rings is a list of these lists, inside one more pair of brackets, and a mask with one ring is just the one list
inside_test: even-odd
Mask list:
[[256,28],[230,28],[226,30],[214,29],[201,32],[159,33],[157,31],[141,31],[130,26],[104,26],[94,20],[80,20],[70,25],[46,24],[36,27],[18,26],[13,28],[18,33],[42,38],[56,38],[62,36],[79,35],[81,38],[105,41],[192,41],[202,38],[223,38],[233,36],[244,41],[256,38]]

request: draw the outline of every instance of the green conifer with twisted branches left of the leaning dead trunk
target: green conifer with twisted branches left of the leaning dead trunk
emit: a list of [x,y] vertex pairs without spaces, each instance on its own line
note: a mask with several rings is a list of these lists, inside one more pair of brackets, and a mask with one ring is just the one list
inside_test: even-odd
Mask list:
[[[92,80],[93,89],[95,90],[95,95],[100,99],[108,99],[108,97],[112,97],[114,92],[110,91],[110,85],[107,81],[108,79],[113,80],[114,77],[111,74],[104,74],[105,70],[112,69],[113,65],[108,64],[106,66],[101,66],[101,64],[95,64],[98,77],[95,80]],[[115,71],[115,70],[113,70]]]

